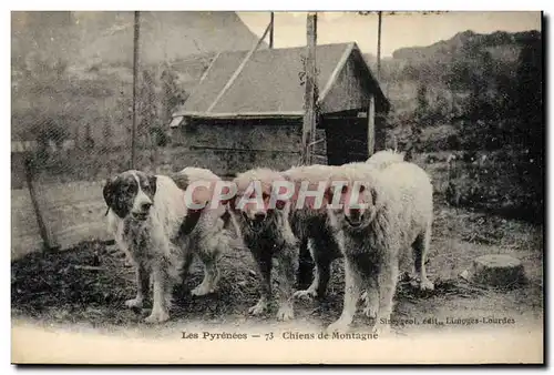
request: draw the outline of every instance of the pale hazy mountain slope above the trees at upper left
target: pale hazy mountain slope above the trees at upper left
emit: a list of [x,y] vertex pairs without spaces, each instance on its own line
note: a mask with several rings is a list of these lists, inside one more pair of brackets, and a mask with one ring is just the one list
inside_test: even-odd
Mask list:
[[[235,12],[140,14],[140,59],[144,63],[248,50],[258,40]],[[64,58],[71,65],[132,63],[133,12],[12,12],[11,19],[16,64],[37,52]]]

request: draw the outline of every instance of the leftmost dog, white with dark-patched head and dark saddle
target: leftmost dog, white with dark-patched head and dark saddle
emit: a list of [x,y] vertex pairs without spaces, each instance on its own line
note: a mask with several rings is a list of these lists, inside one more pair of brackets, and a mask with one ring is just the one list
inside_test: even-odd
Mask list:
[[[194,180],[194,172],[184,170],[177,175]],[[192,215],[183,190],[172,178],[134,170],[109,180],[103,195],[109,206],[109,231],[135,266],[136,297],[125,302],[127,307],[143,306],[152,281],[153,307],[146,322],[167,321],[173,284],[178,271],[186,272],[194,253],[204,262],[206,273],[193,294],[213,291],[218,278],[217,255],[226,237],[219,213]]]

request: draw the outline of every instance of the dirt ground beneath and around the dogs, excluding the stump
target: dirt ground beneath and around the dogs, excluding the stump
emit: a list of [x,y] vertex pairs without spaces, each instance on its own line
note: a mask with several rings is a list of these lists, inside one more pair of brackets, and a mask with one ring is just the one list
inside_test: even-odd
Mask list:
[[[459,277],[473,259],[483,254],[505,253],[520,259],[526,283],[507,290],[481,287]],[[287,326],[275,321],[276,310],[265,316],[248,316],[247,310],[258,298],[255,266],[246,249],[225,254],[218,291],[208,296],[192,297],[202,281],[198,263],[183,286],[175,290],[172,320],[156,332],[174,330],[189,322],[218,326],[230,324]],[[406,270],[410,271],[410,270]],[[543,326],[543,227],[514,220],[473,213],[435,204],[433,240],[428,273],[435,291],[420,294],[409,282],[399,285],[393,320],[399,335],[431,330],[464,330],[466,324],[444,325],[447,317],[509,318],[503,326]],[[150,331],[143,323],[148,311],[132,311],[124,301],[134,296],[133,270],[115,245],[83,243],[57,254],[30,254],[12,263],[11,312],[17,321],[47,325],[79,325],[100,331]],[[334,264],[334,276],[324,301],[297,302],[296,326],[324,328],[338,318],[343,294],[342,263]],[[433,321],[433,318],[435,321]],[[416,320],[422,324],[411,324]],[[367,318],[355,320],[355,328],[368,326]],[[425,324],[431,323],[431,324]],[[494,325],[494,324],[493,324]]]

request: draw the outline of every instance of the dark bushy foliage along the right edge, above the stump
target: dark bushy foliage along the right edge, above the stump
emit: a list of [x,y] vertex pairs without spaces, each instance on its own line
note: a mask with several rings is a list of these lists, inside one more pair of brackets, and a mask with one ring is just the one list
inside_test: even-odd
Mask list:
[[[544,211],[541,34],[486,37],[466,33],[450,58],[439,53],[407,63],[397,78],[416,89],[409,98],[399,97],[402,112],[392,114],[393,130],[398,140],[410,140],[419,152],[463,150],[479,158],[494,153],[486,168],[476,163],[476,156],[464,162],[479,173],[449,185],[450,195],[458,196],[459,204],[540,219]],[[503,59],[514,45],[519,55]],[[404,104],[410,101],[411,105]]]

